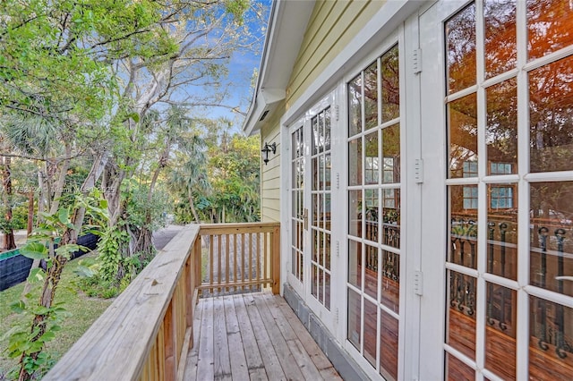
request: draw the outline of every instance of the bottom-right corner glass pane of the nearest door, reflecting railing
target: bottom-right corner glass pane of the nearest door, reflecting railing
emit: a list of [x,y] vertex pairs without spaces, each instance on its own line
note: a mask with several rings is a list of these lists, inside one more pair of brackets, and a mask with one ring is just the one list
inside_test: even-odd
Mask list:
[[573,309],[529,297],[529,378],[573,379]]

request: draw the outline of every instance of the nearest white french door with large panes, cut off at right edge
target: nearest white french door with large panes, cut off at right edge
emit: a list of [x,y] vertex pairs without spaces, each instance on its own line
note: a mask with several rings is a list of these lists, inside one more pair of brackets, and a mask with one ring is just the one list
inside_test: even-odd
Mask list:
[[573,379],[573,4],[440,1],[419,22],[420,376]]

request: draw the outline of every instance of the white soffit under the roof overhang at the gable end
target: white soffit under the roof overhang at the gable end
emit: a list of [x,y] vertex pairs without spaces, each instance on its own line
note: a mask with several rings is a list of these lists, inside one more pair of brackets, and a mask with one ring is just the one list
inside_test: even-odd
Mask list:
[[286,86],[311,18],[314,0],[275,0],[251,106],[243,123],[247,135],[261,130],[262,120],[286,97]]

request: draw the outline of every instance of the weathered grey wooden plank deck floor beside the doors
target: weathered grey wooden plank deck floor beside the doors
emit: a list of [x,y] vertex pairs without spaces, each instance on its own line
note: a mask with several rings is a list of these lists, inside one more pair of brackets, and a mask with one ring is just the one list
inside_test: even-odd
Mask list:
[[269,292],[201,299],[184,380],[340,380],[286,301]]

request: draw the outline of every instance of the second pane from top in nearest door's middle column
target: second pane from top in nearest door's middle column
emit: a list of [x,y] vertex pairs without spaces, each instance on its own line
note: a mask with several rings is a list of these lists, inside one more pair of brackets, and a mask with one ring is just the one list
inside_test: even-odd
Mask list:
[[488,174],[517,174],[517,80],[486,90]]

